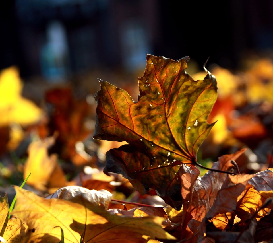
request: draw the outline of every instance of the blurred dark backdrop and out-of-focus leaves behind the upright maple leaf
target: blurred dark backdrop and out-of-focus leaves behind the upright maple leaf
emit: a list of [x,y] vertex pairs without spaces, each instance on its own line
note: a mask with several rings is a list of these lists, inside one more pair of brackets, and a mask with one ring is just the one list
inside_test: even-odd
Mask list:
[[[35,170],[25,163],[41,146],[58,154],[65,179],[49,186],[52,169],[37,190],[79,174],[74,184],[83,185],[81,173],[103,167],[120,144],[92,139],[97,78],[137,100],[146,53],[188,55],[194,79],[205,77],[210,57],[218,100],[208,121],[218,122],[199,149],[201,164],[247,147],[241,172],[272,166],[273,1],[10,0],[1,1],[0,18],[0,186]],[[56,141],[30,149],[49,136]],[[37,170],[34,186],[44,173]]]

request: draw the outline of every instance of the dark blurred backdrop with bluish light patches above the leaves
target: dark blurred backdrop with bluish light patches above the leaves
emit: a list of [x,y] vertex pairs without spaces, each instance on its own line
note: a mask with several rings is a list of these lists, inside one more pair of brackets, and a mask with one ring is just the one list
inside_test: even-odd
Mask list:
[[272,57],[273,1],[10,0],[0,16],[0,68],[17,65],[26,79],[144,70],[146,53],[188,55],[199,68],[210,56],[230,69],[248,55]]

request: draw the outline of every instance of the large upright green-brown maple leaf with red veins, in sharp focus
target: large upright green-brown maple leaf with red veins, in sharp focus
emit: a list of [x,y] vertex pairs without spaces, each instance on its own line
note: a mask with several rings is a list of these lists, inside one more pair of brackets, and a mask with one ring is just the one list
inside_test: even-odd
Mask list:
[[182,204],[177,172],[183,163],[195,164],[197,149],[213,126],[206,119],[217,96],[210,73],[194,81],[185,72],[188,60],[147,55],[137,102],[102,80],[94,96],[94,138],[128,143],[107,152],[105,172],[122,174],[142,194],[154,188],[176,209]]

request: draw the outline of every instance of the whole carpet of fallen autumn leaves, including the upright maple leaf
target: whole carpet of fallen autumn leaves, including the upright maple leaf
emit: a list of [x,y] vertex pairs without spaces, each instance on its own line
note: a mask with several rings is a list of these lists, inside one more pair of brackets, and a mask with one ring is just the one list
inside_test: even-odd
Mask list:
[[[271,87],[273,65],[262,78],[257,70],[266,64],[243,76],[214,69],[217,98],[215,76],[194,80],[188,61],[147,55],[137,102],[100,80],[96,122],[94,104],[76,100],[71,88],[47,91],[40,109],[22,98],[18,72],[2,71],[1,183],[11,173],[31,175],[28,190],[15,186],[12,211],[8,195],[0,199],[0,240],[271,242],[272,156],[256,154],[272,146],[272,100],[251,90],[260,80]],[[229,153],[200,176],[199,148]]]

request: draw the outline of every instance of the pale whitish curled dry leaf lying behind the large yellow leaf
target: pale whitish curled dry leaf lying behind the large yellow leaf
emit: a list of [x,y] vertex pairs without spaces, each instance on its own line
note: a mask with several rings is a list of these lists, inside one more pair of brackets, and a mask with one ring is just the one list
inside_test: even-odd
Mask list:
[[65,199],[71,202],[80,203],[89,208],[104,205],[107,209],[112,198],[112,193],[107,190],[89,190],[81,186],[66,186],[58,189],[47,198]]

